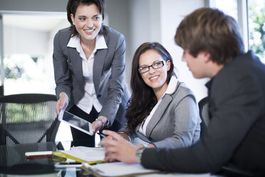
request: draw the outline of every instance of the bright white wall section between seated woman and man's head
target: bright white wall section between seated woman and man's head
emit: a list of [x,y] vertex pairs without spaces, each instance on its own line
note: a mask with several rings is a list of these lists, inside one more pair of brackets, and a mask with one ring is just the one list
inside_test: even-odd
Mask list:
[[182,49],[175,44],[174,36],[177,26],[187,14],[204,6],[204,0],[161,0],[161,43],[170,52],[174,64],[179,71],[180,81],[184,81],[192,89],[197,101],[207,96],[204,84],[208,79],[194,79],[185,62],[181,61]]

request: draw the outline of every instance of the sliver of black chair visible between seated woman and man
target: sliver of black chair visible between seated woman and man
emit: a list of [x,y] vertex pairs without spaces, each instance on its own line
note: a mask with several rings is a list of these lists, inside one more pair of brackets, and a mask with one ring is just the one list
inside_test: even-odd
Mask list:
[[209,117],[209,97],[206,96],[199,101],[199,116],[202,119],[201,123],[201,136],[203,131],[209,125],[210,117]]

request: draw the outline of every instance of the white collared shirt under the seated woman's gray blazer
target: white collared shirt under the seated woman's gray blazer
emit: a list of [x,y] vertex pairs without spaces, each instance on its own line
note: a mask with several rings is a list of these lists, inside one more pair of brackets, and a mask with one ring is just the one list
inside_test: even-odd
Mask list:
[[157,104],[154,106],[154,108],[152,108],[152,111],[150,112],[150,114],[147,116],[147,118],[145,118],[145,121],[142,121],[141,126],[139,128],[139,132],[142,133],[144,136],[146,136],[146,127],[148,125],[148,123],[150,122],[152,116],[154,115],[155,111],[157,110],[158,106],[160,105],[162,99],[164,98],[165,94],[172,94],[177,86],[177,78],[175,76],[172,76],[170,79],[170,83],[167,86],[167,90],[165,91],[165,93],[162,95],[162,97],[160,98],[160,100],[157,102]]

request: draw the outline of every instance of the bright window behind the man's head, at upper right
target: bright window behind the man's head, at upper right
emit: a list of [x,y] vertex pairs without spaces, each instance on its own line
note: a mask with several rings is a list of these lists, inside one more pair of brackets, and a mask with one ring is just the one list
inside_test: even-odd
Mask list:
[[246,50],[251,49],[265,64],[265,0],[209,0],[239,22]]

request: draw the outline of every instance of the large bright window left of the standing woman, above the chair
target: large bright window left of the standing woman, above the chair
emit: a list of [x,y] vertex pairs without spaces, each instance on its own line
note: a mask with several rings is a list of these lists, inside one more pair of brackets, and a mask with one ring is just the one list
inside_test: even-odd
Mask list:
[[53,37],[66,14],[4,14],[4,94],[55,94]]

